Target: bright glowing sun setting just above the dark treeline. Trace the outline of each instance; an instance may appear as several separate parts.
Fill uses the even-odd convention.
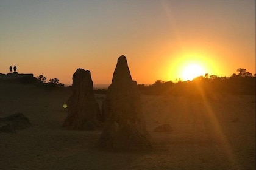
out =
[[[182,72],[182,79],[187,80],[193,80],[194,78],[205,75],[205,70],[202,66],[199,66],[198,64],[188,64]]]

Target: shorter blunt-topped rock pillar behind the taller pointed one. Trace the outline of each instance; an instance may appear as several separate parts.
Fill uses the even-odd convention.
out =
[[[93,130],[99,124],[99,106],[94,98],[90,71],[77,69],[73,75],[73,94],[68,100],[68,115],[63,127],[73,130]]]

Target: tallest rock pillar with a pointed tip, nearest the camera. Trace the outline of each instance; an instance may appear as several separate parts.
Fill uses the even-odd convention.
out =
[[[102,109],[106,126],[99,138],[99,147],[117,150],[152,148],[144,124],[137,83],[132,80],[125,56],[118,58]]]

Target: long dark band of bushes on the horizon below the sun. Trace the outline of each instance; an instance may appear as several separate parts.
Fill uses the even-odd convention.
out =
[[[255,95],[256,77],[246,69],[237,69],[240,72],[231,77],[217,77],[216,75],[205,74],[192,81],[157,80],[154,84],[145,86],[139,84],[140,92],[147,95],[186,95],[190,97],[211,97],[213,94],[243,94]]]

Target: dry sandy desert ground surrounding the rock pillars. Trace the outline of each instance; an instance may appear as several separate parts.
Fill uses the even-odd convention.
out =
[[[0,169],[255,169],[255,96],[141,95],[151,151],[96,147],[101,130],[62,129],[67,88],[0,84],[0,117],[21,112],[29,129],[0,134]],[[96,95],[99,103],[101,98]],[[172,132],[154,132],[169,123]]]

